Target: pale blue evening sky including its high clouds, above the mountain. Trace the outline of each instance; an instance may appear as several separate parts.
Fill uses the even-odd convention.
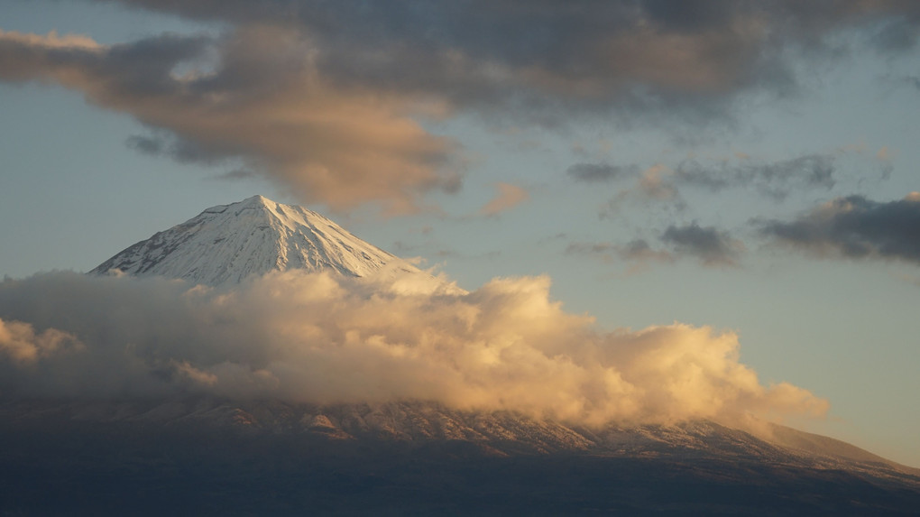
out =
[[[5,350],[91,345],[17,312],[14,294],[96,293],[36,273],[258,193],[483,311],[535,293],[592,335],[579,353],[711,334],[714,385],[764,386],[726,408],[795,392],[808,410],[784,421],[918,466],[918,35],[897,0],[0,0],[0,274],[26,279],[0,330],[34,345]],[[219,378],[194,364],[174,366]],[[636,402],[680,400],[653,395]]]

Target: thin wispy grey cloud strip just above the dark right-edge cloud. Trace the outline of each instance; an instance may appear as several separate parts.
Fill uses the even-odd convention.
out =
[[[834,155],[805,155],[773,163],[742,163],[704,166],[696,160],[681,162],[674,171],[674,181],[681,185],[712,192],[731,188],[749,188],[774,198],[785,199],[801,188],[834,187]]]

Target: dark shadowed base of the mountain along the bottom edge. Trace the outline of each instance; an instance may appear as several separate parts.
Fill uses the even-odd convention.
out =
[[[920,484],[694,453],[496,456],[71,422],[0,430],[0,515],[915,515]]]

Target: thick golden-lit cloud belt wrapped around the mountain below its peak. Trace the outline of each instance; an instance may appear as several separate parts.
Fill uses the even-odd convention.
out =
[[[761,385],[738,361],[730,332],[680,324],[599,332],[591,317],[553,301],[549,284],[546,277],[505,278],[469,293],[422,291],[403,289],[398,279],[288,271],[231,292],[43,273],[0,284],[0,316],[17,322],[13,339],[45,350],[29,364],[0,354],[0,390],[77,398],[423,399],[584,423],[827,408],[801,388]],[[82,347],[48,346],[54,336],[79,339]],[[7,350],[12,341],[5,339]],[[42,339],[45,345],[36,344]]]

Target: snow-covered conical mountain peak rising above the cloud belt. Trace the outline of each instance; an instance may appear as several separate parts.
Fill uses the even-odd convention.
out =
[[[110,270],[211,286],[272,270],[334,271],[352,277],[385,270],[422,273],[318,213],[262,196],[209,208],[128,247],[90,274]]]

